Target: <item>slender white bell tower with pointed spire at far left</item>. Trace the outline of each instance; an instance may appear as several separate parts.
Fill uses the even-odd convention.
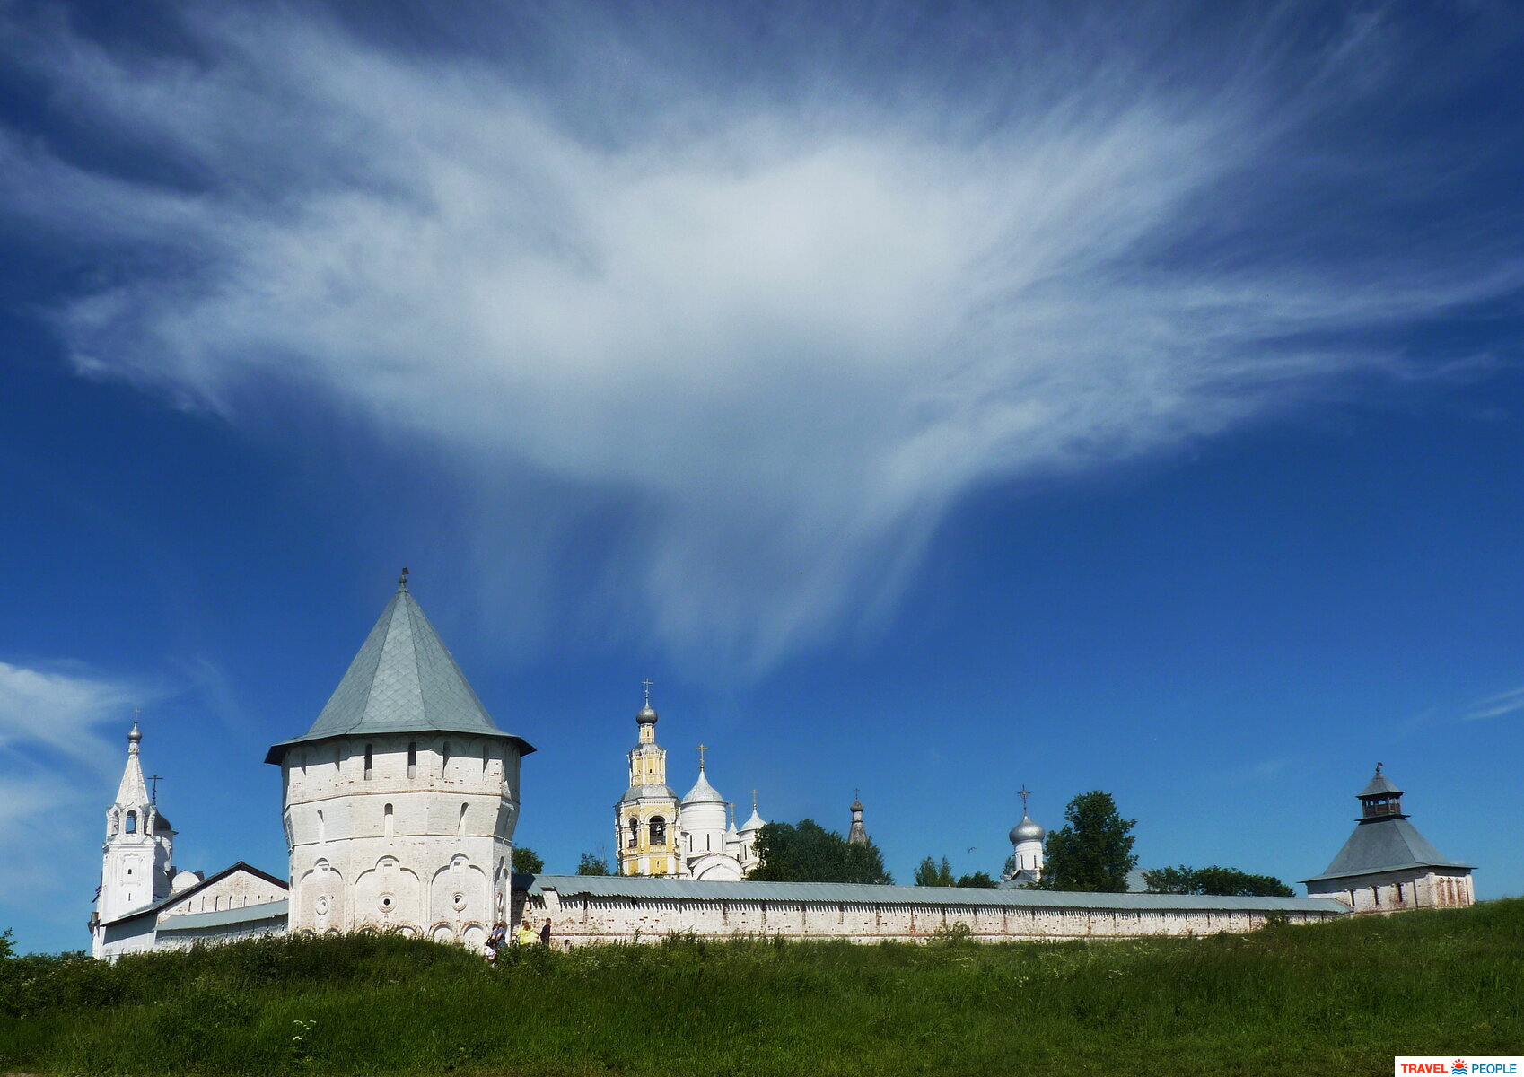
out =
[[[143,765],[139,745],[143,734],[133,719],[126,734],[126,768],[116,801],[105,810],[105,844],[102,845],[101,891],[96,896],[94,916],[90,919],[93,952],[102,957],[104,929],[133,909],[151,905],[169,896],[174,877],[171,867],[174,855],[174,829],[169,820],[158,813],[154,797],[148,795],[143,780]]]

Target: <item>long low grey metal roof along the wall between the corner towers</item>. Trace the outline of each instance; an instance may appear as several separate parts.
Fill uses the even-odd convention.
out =
[[[1071,894],[1049,890],[965,887],[875,887],[852,882],[693,882],[651,876],[535,874],[514,876],[514,890],[556,891],[561,897],[642,897],[747,902],[828,902],[837,905],[957,905],[1017,908],[1088,908],[1221,912],[1349,912],[1330,897],[1202,897],[1198,894]]]

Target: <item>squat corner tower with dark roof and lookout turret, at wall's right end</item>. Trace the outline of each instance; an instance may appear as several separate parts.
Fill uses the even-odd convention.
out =
[[[1381,772],[1356,794],[1355,833],[1323,874],[1303,879],[1308,897],[1337,897],[1355,912],[1472,905],[1469,864],[1445,859],[1402,812],[1402,789]]]

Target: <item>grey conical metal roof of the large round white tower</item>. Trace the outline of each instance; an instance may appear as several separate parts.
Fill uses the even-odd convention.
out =
[[[521,737],[497,728],[404,583],[381,611],[312,728],[274,745],[265,762],[279,763],[287,748],[306,740],[434,731],[500,737],[512,740],[523,754],[533,751]]]

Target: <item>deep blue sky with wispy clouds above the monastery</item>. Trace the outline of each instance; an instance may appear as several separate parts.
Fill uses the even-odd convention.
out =
[[[608,842],[686,789],[1000,868],[1033,789],[1300,879],[1376,760],[1524,891],[1512,5],[0,3],[0,922],[85,944],[398,568]]]

